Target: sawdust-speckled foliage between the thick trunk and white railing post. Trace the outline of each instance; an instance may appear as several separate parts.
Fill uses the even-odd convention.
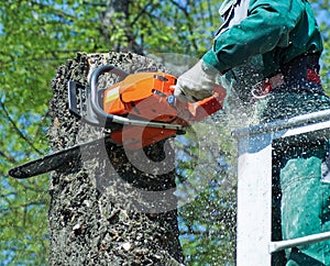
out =
[[[235,143],[230,128],[220,114],[194,125],[184,140],[177,137],[180,241],[187,265],[235,265]]]

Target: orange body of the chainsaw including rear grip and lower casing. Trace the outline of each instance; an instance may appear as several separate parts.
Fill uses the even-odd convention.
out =
[[[136,73],[103,91],[103,111],[109,114],[188,126],[222,109],[226,90],[217,86],[215,95],[195,103],[174,101],[177,78],[166,73]],[[124,124],[112,131],[111,138],[125,148],[141,148],[175,136],[166,125]]]

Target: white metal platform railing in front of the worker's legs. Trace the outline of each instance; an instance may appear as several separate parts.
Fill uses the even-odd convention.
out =
[[[250,126],[233,136],[238,140],[237,265],[271,266],[275,252],[330,240],[330,232],[324,232],[272,241],[273,152],[283,145],[330,138],[330,110]]]

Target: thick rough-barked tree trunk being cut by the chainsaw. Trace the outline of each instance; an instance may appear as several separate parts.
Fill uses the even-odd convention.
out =
[[[78,54],[59,67],[52,82],[53,125],[48,134],[54,151],[102,134],[101,129],[68,112],[67,81],[87,85],[92,69],[105,64],[130,73],[162,68],[145,57],[121,53]],[[99,82],[105,87],[114,78],[103,75]],[[79,162],[52,175],[50,264],[179,265],[183,255],[170,143],[134,152],[105,143],[98,151],[81,149]]]

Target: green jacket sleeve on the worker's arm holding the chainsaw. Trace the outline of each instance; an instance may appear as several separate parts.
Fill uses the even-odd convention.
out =
[[[251,0],[248,16],[219,34],[202,59],[223,73],[250,57],[289,45],[289,33],[304,9],[297,0]]]

